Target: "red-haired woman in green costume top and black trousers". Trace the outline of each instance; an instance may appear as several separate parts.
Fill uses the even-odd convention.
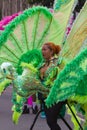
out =
[[[39,79],[43,85],[49,86],[51,88],[54,80],[56,79],[59,71],[58,67],[58,54],[61,50],[59,45],[55,45],[52,42],[47,42],[42,46],[42,55],[44,62],[39,67]],[[58,115],[60,110],[66,103],[66,101],[59,102],[50,108],[45,105],[45,99],[47,95],[41,96],[41,101],[44,104],[44,111],[46,114],[47,124],[50,130],[61,130],[60,126],[57,124]]]

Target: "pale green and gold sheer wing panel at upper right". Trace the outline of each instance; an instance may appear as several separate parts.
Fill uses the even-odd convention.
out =
[[[81,50],[87,45],[87,2],[83,6],[82,10],[78,14],[72,30],[65,41],[65,45],[62,50],[62,57],[71,61]]]

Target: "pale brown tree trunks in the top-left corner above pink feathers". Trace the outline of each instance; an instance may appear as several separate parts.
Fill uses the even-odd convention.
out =
[[[29,4],[27,0],[1,0],[0,1],[0,9],[2,12],[2,17],[23,11],[28,7]]]

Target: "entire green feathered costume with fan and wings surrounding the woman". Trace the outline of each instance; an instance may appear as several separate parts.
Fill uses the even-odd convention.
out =
[[[87,2],[76,18],[69,36],[64,41],[73,3],[74,0],[55,0],[53,14],[45,7],[33,7],[25,10],[0,35],[0,64],[10,62],[16,68],[15,74],[9,70],[10,74],[13,75],[11,81],[13,83],[14,106],[12,109],[15,123],[18,122],[26,98],[35,92],[43,92],[43,90],[47,93],[50,91],[46,99],[48,107],[65,99],[73,100],[81,105],[87,119],[87,102],[83,100],[87,96]],[[42,86],[37,78],[35,82],[32,78],[37,73],[42,57],[38,57],[37,54],[35,57],[31,51],[34,49],[40,51],[41,46],[49,41],[60,44],[62,47],[59,55],[60,62],[58,61],[61,68],[60,73],[52,84],[51,90]],[[62,60],[66,61],[64,68],[62,68]],[[28,64],[23,63],[22,68],[20,66],[22,62],[30,64],[28,66]],[[27,82],[29,79],[31,80]],[[35,84],[39,86],[39,90],[36,89]],[[84,129],[86,129],[86,125]]]

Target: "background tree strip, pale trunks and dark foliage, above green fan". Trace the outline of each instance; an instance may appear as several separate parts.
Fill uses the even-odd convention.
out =
[[[23,11],[33,5],[43,5],[50,8],[53,3],[54,0],[1,0],[0,13],[2,17],[5,17]]]

